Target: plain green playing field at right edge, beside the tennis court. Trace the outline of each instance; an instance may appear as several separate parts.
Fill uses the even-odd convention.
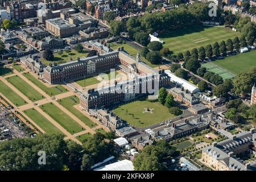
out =
[[[216,60],[213,63],[234,73],[249,72],[251,68],[256,67],[256,50]]]

